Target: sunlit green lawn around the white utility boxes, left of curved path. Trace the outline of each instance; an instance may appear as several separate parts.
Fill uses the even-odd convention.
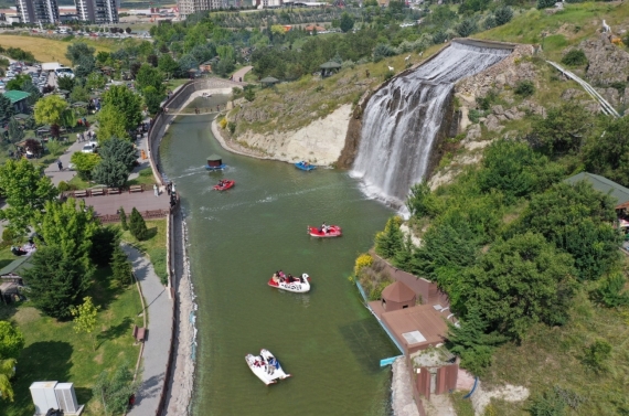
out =
[[[32,416],[29,386],[35,381],[72,382],[84,415],[103,415],[100,403],[93,397],[92,386],[104,370],[114,370],[124,362],[135,369],[139,346],[134,345],[131,329],[141,326],[141,302],[136,286],[119,288],[111,284],[109,268],[99,269],[87,294],[100,306],[96,331],[96,351],[92,339],[75,333],[72,322],[43,317],[30,303],[0,306],[0,319],[14,321],[25,338],[25,348],[18,360],[13,381],[14,403],[0,406],[2,416]]]

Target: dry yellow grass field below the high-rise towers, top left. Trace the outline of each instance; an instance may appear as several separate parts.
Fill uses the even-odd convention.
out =
[[[109,43],[89,40],[85,42],[96,47],[96,51],[109,52],[111,50],[111,44]],[[71,64],[70,60],[65,57],[65,52],[71,43],[72,42],[42,36],[0,34],[0,45],[3,47],[21,47],[24,51],[31,52],[35,56],[35,60],[40,62],[60,62],[64,65]]]

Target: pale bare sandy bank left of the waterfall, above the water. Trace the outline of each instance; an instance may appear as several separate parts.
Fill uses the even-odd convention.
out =
[[[225,139],[216,122],[212,122],[212,132],[223,148],[235,153],[289,163],[308,160],[313,164],[330,166],[345,146],[351,113],[352,106],[347,104],[302,129],[274,135],[246,132],[237,140]]]

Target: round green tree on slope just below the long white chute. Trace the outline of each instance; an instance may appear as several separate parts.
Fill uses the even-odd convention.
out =
[[[593,115],[580,104],[567,102],[551,108],[533,122],[532,136],[550,154],[576,153],[594,127]]]

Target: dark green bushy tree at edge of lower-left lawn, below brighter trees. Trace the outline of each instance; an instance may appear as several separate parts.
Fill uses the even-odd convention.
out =
[[[78,303],[92,280],[78,262],[66,257],[58,246],[43,246],[32,255],[32,267],[23,271],[29,299],[34,307],[57,319],[70,318],[70,307]]]

